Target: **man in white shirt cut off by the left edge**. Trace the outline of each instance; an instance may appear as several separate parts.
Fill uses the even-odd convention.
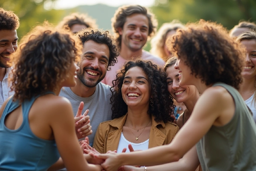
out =
[[[8,74],[11,68],[7,62],[9,55],[18,48],[16,29],[20,26],[19,18],[12,11],[0,8],[0,107],[13,91],[8,86]]]

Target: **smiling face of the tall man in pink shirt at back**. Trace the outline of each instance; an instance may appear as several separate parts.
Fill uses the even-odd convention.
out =
[[[123,28],[119,28],[122,36],[121,48],[128,47],[135,52],[141,50],[148,38],[148,18],[143,14],[132,14],[127,16]]]

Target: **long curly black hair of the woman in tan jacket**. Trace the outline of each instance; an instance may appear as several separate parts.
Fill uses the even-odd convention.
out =
[[[174,118],[174,103],[173,98],[170,96],[167,89],[166,73],[162,68],[157,67],[151,61],[128,61],[121,68],[119,73],[116,74],[116,79],[113,81],[114,85],[111,88],[112,96],[110,97],[110,104],[112,104],[112,119],[124,116],[128,107],[123,101],[122,85],[124,76],[130,68],[140,67],[148,76],[148,81],[151,86],[151,97],[154,102],[153,107],[149,105],[148,114],[155,116],[156,122],[167,121],[173,122]]]

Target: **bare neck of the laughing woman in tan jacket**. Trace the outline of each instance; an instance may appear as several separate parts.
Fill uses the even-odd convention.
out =
[[[134,110],[128,107],[126,123],[134,129],[140,129],[143,126],[146,126],[147,124],[151,125],[152,122],[149,122],[151,120],[151,116],[147,113],[147,111],[148,108],[142,110]]]

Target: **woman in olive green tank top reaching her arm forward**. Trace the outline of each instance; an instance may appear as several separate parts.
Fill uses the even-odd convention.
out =
[[[132,153],[96,155],[102,167],[146,165],[149,170],[253,171],[256,168],[256,125],[236,90],[244,66],[240,43],[226,29],[201,20],[180,29],[168,40],[177,55],[180,86],[194,85],[202,94],[174,140],[164,146]],[[174,163],[169,163],[174,162]],[[152,165],[161,166],[147,167]]]

